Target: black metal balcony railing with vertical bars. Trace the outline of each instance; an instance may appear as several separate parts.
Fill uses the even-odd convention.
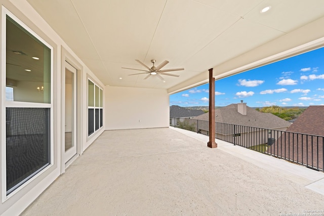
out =
[[[324,171],[322,136],[220,122],[215,124],[216,139]],[[209,121],[205,120],[170,118],[170,126],[209,135]]]

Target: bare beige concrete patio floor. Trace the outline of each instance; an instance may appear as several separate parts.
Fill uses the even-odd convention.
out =
[[[324,215],[323,172],[207,141],[178,128],[105,131],[21,215]]]

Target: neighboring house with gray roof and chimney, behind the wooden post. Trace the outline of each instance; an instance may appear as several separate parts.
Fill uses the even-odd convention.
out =
[[[197,121],[198,132],[208,135],[209,113],[199,115],[193,119]],[[215,109],[216,138],[231,141],[238,145],[255,146],[268,143],[268,138],[275,137],[271,130],[286,131],[291,125],[271,113],[262,113],[248,107],[247,103],[230,104]],[[258,137],[258,139],[251,139]]]

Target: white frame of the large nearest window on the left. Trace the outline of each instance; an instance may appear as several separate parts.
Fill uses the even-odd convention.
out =
[[[2,118],[5,119],[6,116],[6,108],[10,107],[17,107],[17,108],[49,108],[50,111],[50,118],[49,118],[49,164],[47,164],[45,167],[42,167],[41,169],[38,169],[37,171],[33,172],[29,177],[26,178],[26,181],[22,181],[22,184],[17,186],[14,190],[12,190],[8,194],[7,190],[7,158],[6,158],[6,153],[7,153],[7,147],[6,145],[2,145],[1,147],[1,163],[2,163],[2,200],[3,202],[9,199],[10,197],[14,196],[17,194],[22,188],[26,187],[30,182],[34,181],[36,178],[44,174],[48,169],[50,169],[54,165],[54,48],[51,46],[45,39],[43,39],[41,36],[39,36],[36,32],[34,32],[31,28],[29,28],[24,22],[22,22],[19,18],[17,18],[14,14],[12,14],[8,9],[6,9],[4,6],[2,6],[2,53],[6,54],[7,53],[7,46],[6,46],[6,41],[7,41],[7,16],[15,21],[17,24],[19,24],[22,28],[24,28],[29,34],[34,36],[36,39],[41,41],[43,45],[45,45],[47,48],[50,50],[50,101],[49,103],[34,103],[34,102],[20,102],[20,101],[7,101],[5,98],[5,95],[2,94]],[[6,62],[6,55],[2,55],[2,62]],[[2,77],[2,86],[6,86],[6,64],[2,64],[2,72],[1,72],[1,77]],[[2,130],[2,140],[1,142],[6,144],[6,122],[2,122],[2,128],[5,128]]]

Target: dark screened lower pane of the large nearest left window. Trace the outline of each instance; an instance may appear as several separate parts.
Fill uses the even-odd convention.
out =
[[[7,194],[50,164],[50,108],[6,108]]]

